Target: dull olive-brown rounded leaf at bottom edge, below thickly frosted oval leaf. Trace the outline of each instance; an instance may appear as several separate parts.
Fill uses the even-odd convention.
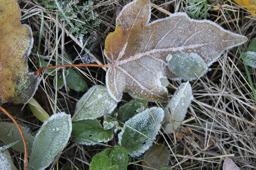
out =
[[[168,164],[170,156],[169,150],[163,144],[153,144],[144,154],[145,161],[142,162],[143,170],[151,170],[151,168],[160,169]],[[147,168],[151,167],[151,168]]]

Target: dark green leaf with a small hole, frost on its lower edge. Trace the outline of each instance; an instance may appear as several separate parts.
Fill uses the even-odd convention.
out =
[[[81,120],[73,122],[72,125],[72,139],[81,144],[94,145],[99,142],[108,142],[113,138],[113,132],[104,130],[97,119]]]

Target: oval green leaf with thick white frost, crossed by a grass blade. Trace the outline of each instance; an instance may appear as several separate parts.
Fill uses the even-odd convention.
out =
[[[140,156],[152,145],[152,140],[155,139],[161,127],[160,122],[163,121],[163,116],[163,109],[157,107],[137,113],[125,122],[122,131],[118,134],[119,145],[125,147],[130,156]]]

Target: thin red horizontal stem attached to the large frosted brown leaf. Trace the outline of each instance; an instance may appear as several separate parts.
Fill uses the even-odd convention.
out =
[[[43,70],[51,69],[51,68],[60,68],[60,67],[112,67],[113,65],[99,65],[99,64],[66,64],[66,65],[54,65],[49,67],[39,68],[34,72],[35,77],[39,77]]]

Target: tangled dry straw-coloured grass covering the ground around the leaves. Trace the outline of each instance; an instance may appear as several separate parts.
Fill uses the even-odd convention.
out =
[[[82,0],[81,0],[82,1]],[[105,63],[103,55],[104,41],[108,32],[115,29],[115,18],[122,6],[131,0],[94,0],[93,8],[99,16],[101,24],[93,28],[96,34],[88,34],[82,43],[66,28],[67,20],[61,19],[58,10],[50,10],[42,5],[40,0],[19,0],[24,23],[32,27],[34,34],[34,52],[29,56],[29,68],[38,68],[38,55],[49,57],[56,65],[67,63],[82,63],[82,56],[89,50],[97,63]],[[174,12],[186,12],[187,0],[151,0],[152,18],[163,18]],[[237,6],[231,0],[215,0],[207,2],[210,6],[207,18],[235,33],[245,35],[249,40],[256,37],[256,19],[250,12]],[[82,4],[82,3],[79,3]],[[78,5],[79,5],[78,4]],[[77,20],[79,22],[79,20]],[[41,28],[41,23],[44,24]],[[83,23],[86,24],[86,23]],[[42,41],[38,48],[38,37]],[[89,42],[88,44],[86,43]],[[246,51],[247,44],[240,46]],[[37,50],[39,49],[39,50]],[[67,57],[73,56],[73,57]],[[76,58],[76,60],[74,60]],[[204,77],[191,81],[194,99],[187,113],[183,126],[193,130],[195,140],[190,137],[175,143],[172,134],[157,137],[157,142],[169,147],[170,162],[168,167],[175,170],[221,170],[223,159],[229,157],[241,170],[256,168],[256,101],[253,98],[244,64],[238,48],[226,51],[218,62],[212,66],[212,71]],[[76,68],[87,81],[88,86],[105,83],[105,70],[102,68]],[[249,68],[252,81],[256,82],[255,68]],[[61,74],[56,71],[56,74]],[[70,91],[69,88],[56,90],[52,85],[52,77],[44,74],[35,99],[50,114],[64,111],[73,114],[76,102],[83,93]],[[170,81],[169,95],[172,96],[180,81]],[[124,99],[131,99],[125,94]],[[125,102],[125,101],[122,101]],[[163,103],[149,103],[149,107]],[[41,122],[35,119],[25,106],[22,113],[18,105],[6,105],[15,118],[23,125],[36,132]],[[17,112],[18,111],[18,112]],[[194,119],[190,119],[191,116]],[[6,121],[3,114],[2,121]],[[190,121],[186,121],[190,119]],[[116,140],[114,138],[113,140]],[[115,142],[113,142],[115,143]],[[112,145],[109,142],[108,144]],[[50,169],[89,169],[92,157],[104,150],[104,145],[83,146],[70,142],[64,151],[58,155]],[[22,154],[15,151],[12,157],[17,165],[22,167]],[[141,169],[143,157],[130,159],[128,168]]]

